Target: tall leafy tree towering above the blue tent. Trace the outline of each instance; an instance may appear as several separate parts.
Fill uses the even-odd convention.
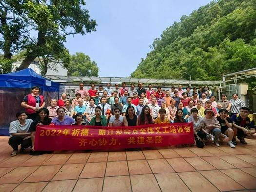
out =
[[[96,21],[90,19],[88,10],[83,6],[84,0],[1,0],[0,9],[4,11],[0,12],[0,17],[8,21],[2,24],[8,33],[0,31],[3,35],[0,49],[6,52],[5,55],[12,49],[16,52],[26,50],[18,70],[27,68],[37,57],[59,58],[65,52],[66,36],[84,35],[96,30]],[[9,15],[13,18],[9,19]],[[19,18],[17,23],[25,24],[15,27],[16,33],[13,33],[18,34],[18,40],[9,43],[14,18]],[[31,31],[37,32],[36,38],[31,37]]]

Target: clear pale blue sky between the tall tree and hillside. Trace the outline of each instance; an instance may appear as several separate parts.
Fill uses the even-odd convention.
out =
[[[189,15],[212,0],[86,0],[96,20],[96,32],[69,36],[70,54],[89,55],[99,77],[129,77],[151,51],[155,38],[182,15]]]

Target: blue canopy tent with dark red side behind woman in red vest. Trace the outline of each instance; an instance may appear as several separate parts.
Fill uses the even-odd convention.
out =
[[[40,87],[46,104],[58,98],[59,83],[47,80],[30,68],[0,75],[0,135],[9,135],[10,122],[16,120],[18,111],[24,110],[21,102],[33,86]]]

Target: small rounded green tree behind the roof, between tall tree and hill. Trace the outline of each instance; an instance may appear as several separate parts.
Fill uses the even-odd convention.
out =
[[[64,64],[68,70],[68,75],[72,76],[98,76],[99,68],[95,61],[91,61],[88,55],[76,53],[70,56],[69,64]]]

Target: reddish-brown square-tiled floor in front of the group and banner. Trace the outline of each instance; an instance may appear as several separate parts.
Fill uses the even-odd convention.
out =
[[[142,151],[12,152],[0,137],[0,192],[255,191],[256,140]]]

